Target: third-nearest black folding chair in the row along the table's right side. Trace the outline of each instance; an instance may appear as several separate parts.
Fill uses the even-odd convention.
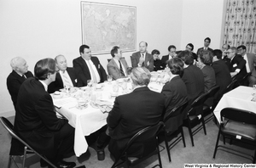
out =
[[[203,127],[205,135],[207,135],[207,129],[205,126],[205,120],[203,117],[203,104],[207,100],[209,95],[209,92],[201,94],[198,98],[195,98],[193,103],[190,105],[189,112],[187,119],[185,120],[188,123],[188,128],[189,128],[189,136],[191,139],[192,146],[194,146],[194,138],[193,136],[201,130]],[[201,115],[201,118],[200,116]],[[201,122],[201,126],[197,127],[193,132],[192,132],[192,124],[197,123],[198,121]]]

